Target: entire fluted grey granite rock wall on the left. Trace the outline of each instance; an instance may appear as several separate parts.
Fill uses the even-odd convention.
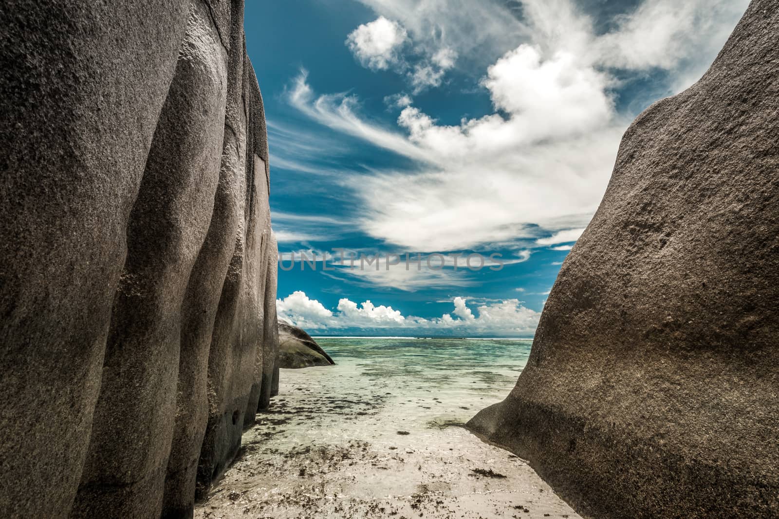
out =
[[[243,2],[12,0],[0,23],[3,512],[186,517],[275,363]]]

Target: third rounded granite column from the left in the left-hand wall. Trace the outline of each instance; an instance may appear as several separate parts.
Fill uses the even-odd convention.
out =
[[[245,133],[243,113],[243,9],[241,2],[209,5],[227,49],[227,93],[219,160],[219,184],[213,216],[196,267],[189,279],[183,308],[182,349],[179,358],[174,440],[167,462],[163,517],[186,517],[195,499],[197,468],[206,431],[209,398],[207,370],[220,293],[235,247],[245,225],[245,166],[236,162],[236,132]],[[234,21],[231,23],[231,18]],[[237,129],[236,129],[237,128]],[[269,223],[270,224],[270,223]],[[226,374],[225,376],[228,376]]]

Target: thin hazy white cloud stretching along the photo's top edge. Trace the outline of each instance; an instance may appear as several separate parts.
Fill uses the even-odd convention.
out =
[[[700,76],[749,5],[749,0],[643,0],[611,20],[612,30],[597,35],[595,13],[574,0],[360,1],[379,16],[397,19],[431,54],[449,48],[474,65],[534,42],[545,52],[573,51],[603,66],[659,67],[683,76]]]

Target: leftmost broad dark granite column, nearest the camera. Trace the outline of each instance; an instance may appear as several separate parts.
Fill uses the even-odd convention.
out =
[[[0,5],[0,503],[67,517],[189,2]]]

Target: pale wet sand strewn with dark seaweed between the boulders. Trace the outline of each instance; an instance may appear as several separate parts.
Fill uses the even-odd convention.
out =
[[[436,391],[378,367],[282,370],[271,411],[195,517],[579,517],[525,461],[459,425],[508,380]]]

